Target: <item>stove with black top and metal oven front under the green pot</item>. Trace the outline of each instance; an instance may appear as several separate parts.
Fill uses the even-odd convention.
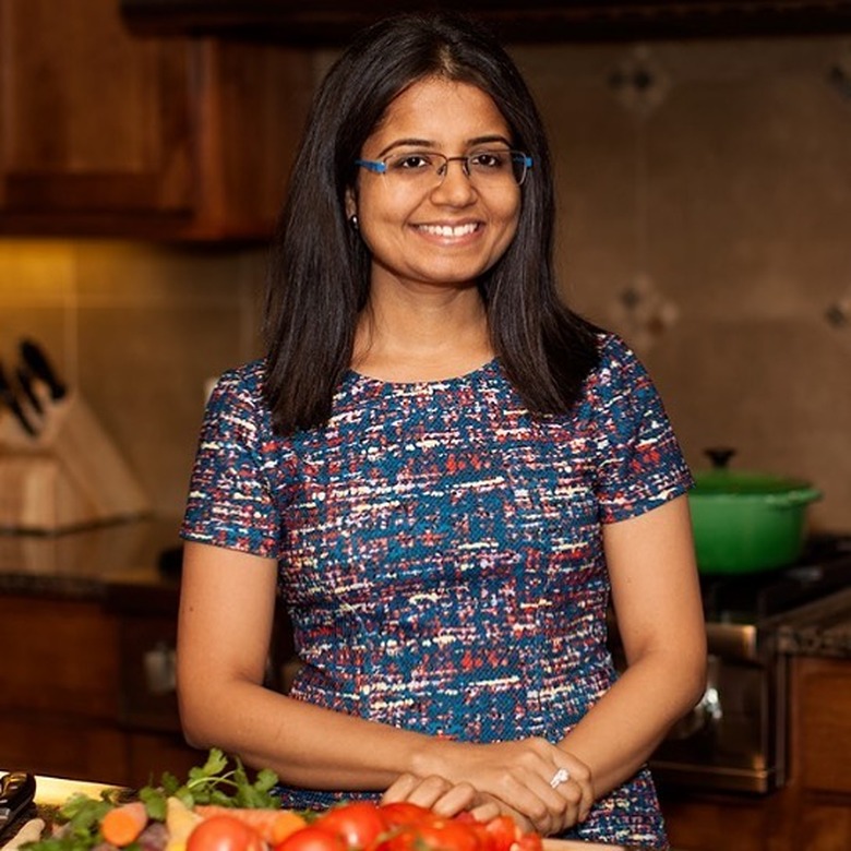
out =
[[[703,576],[707,688],[650,760],[660,786],[766,794],[786,783],[786,619],[851,587],[851,535],[814,536],[789,567]]]

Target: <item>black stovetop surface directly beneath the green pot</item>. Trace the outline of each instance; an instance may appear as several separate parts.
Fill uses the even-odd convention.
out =
[[[851,585],[851,535],[818,535],[795,564],[748,575],[703,576],[707,622],[759,623]]]

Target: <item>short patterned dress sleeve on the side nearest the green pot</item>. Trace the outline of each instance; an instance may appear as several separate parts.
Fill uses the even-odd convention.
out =
[[[616,337],[602,347],[591,406],[600,516],[613,523],[685,493],[692,475],[649,374]]]

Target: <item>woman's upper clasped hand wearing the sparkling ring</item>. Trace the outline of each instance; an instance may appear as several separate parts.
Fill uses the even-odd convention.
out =
[[[436,740],[427,759],[438,776],[498,799],[543,836],[583,820],[594,803],[588,766],[544,739],[490,744]],[[560,768],[567,770],[568,779],[553,787]]]

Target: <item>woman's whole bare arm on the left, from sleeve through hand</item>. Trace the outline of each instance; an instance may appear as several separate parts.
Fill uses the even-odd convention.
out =
[[[406,774],[439,775],[511,801],[542,831],[561,826],[565,802],[549,779],[570,757],[543,740],[442,741],[264,687],[276,570],[273,560],[185,544],[178,694],[188,741],[310,789],[384,790]]]

